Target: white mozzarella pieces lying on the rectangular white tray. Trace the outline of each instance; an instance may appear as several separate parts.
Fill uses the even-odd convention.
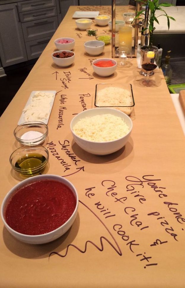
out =
[[[47,119],[52,99],[53,93],[37,91],[31,97],[31,102],[23,109],[24,121],[43,121]]]

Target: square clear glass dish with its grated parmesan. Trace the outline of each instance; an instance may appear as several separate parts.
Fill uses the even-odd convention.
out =
[[[134,105],[131,84],[96,84],[95,107],[114,108],[130,115]]]

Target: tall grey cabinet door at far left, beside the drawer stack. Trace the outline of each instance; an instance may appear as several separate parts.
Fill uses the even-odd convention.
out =
[[[0,5],[0,57],[2,66],[27,61],[23,32],[15,3]]]

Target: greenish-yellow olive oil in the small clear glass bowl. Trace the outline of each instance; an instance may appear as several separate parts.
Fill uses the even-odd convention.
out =
[[[21,156],[15,163],[15,167],[21,169],[22,174],[30,176],[40,172],[39,166],[42,165],[45,160],[46,158],[42,154],[30,153]]]

